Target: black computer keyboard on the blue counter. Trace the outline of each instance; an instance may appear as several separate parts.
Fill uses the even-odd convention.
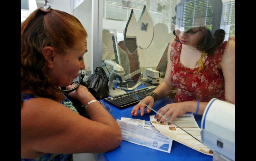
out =
[[[146,94],[153,91],[154,89],[156,89],[156,86],[149,86],[131,92],[127,92],[122,95],[107,97],[104,100],[106,102],[109,102],[110,104],[113,104],[119,109],[124,109],[134,104],[137,104],[139,102],[137,99],[143,99],[146,96]]]

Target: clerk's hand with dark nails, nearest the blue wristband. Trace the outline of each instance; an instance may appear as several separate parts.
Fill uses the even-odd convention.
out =
[[[160,113],[165,118],[168,118],[171,116],[170,121],[173,121],[177,116],[183,115],[187,112],[187,106],[185,102],[179,102],[179,103],[171,103],[167,104],[161,109],[158,110],[157,113]],[[160,121],[162,118],[160,115],[156,114],[155,118],[157,118],[157,121]],[[164,118],[162,118],[160,123],[163,123],[165,121]]]

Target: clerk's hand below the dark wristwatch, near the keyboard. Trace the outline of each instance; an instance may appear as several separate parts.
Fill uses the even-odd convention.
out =
[[[154,98],[152,96],[147,96],[144,99],[141,100],[141,102],[143,102],[144,104],[148,105],[149,107],[153,107],[154,106]],[[131,111],[131,115],[132,116],[137,116],[138,115],[138,111],[140,110],[140,115],[143,116],[144,115],[144,109],[145,109],[145,105],[143,103],[139,102],[137,105],[135,105]],[[150,113],[151,109],[147,109],[146,112]]]

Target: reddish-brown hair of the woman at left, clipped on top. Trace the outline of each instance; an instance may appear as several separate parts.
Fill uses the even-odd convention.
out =
[[[43,48],[51,46],[58,54],[66,54],[85,37],[80,21],[66,12],[37,9],[31,13],[21,24],[21,91],[30,90],[40,97],[61,101],[63,93],[53,86],[48,75]]]

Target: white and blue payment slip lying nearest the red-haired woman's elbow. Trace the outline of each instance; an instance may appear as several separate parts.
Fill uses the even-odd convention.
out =
[[[131,123],[132,120],[135,120],[136,123]],[[121,120],[117,119],[116,122],[121,128],[123,140],[137,145],[146,146],[151,149],[156,149],[167,153],[171,152],[173,140],[162,135],[154,127],[150,127],[152,126],[151,123],[151,125],[145,124],[145,120],[131,118],[123,118]],[[150,121],[147,123],[149,122]]]

